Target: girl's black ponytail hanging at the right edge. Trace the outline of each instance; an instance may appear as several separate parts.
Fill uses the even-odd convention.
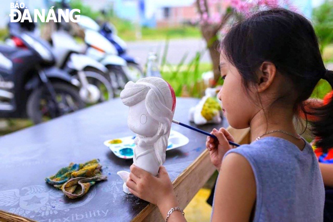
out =
[[[326,70],[323,78],[333,88],[333,71]],[[315,120],[312,122],[312,132],[316,137],[315,146],[321,147],[325,153],[333,148],[333,99],[332,92],[323,106],[314,108]]]

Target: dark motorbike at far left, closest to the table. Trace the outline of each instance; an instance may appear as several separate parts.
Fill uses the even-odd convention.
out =
[[[0,45],[0,118],[29,117],[37,124],[83,108],[79,82],[53,66],[48,44],[13,34],[21,47]]]

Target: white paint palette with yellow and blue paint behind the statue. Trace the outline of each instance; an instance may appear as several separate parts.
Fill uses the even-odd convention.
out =
[[[127,136],[118,139],[106,140],[104,145],[107,146],[116,156],[123,159],[132,159],[133,158],[133,149],[135,147],[134,143],[135,136]],[[189,138],[183,134],[171,130],[168,140],[168,150],[172,150],[181,146],[184,146],[189,143]]]

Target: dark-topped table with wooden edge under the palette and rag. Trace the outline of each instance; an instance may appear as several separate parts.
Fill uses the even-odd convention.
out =
[[[186,124],[188,110],[198,99],[177,98],[176,120]],[[44,124],[0,138],[0,221],[158,221],[158,209],[133,195],[126,195],[117,175],[129,171],[132,160],[120,159],[103,141],[133,135],[127,127],[128,107],[120,99],[98,104]],[[220,125],[200,127],[229,127]],[[179,125],[190,142],[167,152],[164,166],[173,180],[180,206],[185,208],[214,172],[205,149],[206,136]],[[247,142],[248,130],[231,129],[236,142]],[[70,162],[99,158],[105,182],[98,182],[80,199],[68,199],[45,183]]]

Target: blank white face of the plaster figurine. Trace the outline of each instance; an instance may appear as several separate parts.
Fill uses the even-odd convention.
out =
[[[127,125],[136,134],[154,136],[157,133],[159,123],[148,114],[145,100],[142,100],[129,107]]]

